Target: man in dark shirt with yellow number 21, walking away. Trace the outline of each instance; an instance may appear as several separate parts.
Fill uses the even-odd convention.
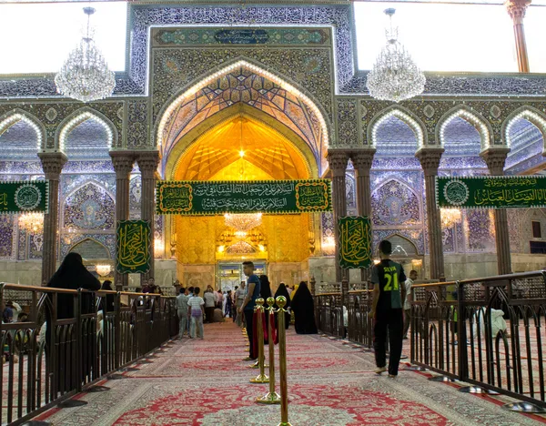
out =
[[[389,378],[398,376],[402,354],[402,330],[404,327],[403,303],[406,291],[406,275],[399,263],[389,259],[392,245],[383,240],[379,243],[381,261],[371,269],[373,301],[369,315],[375,320],[373,349],[375,350],[377,374],[387,370],[385,342],[389,330]]]

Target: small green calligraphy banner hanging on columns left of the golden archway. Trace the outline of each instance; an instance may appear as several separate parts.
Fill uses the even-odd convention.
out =
[[[147,220],[119,220],[116,229],[116,270],[145,274],[152,261],[152,230]]]

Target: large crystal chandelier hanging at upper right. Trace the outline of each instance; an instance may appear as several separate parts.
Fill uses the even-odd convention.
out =
[[[418,96],[425,89],[425,76],[398,40],[398,28],[392,26],[395,9],[386,9],[390,28],[386,30],[387,46],[379,53],[368,74],[369,95],[376,99],[399,102]]]

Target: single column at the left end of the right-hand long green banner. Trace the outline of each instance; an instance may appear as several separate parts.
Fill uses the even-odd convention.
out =
[[[441,239],[440,208],[436,206],[436,177],[443,148],[421,148],[415,157],[425,174],[427,225],[429,227],[430,279],[445,279]]]

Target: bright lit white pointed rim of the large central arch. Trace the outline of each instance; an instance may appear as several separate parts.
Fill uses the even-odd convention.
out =
[[[320,106],[314,97],[305,89],[298,87],[296,83],[291,82],[287,77],[273,74],[266,70],[264,66],[258,65],[248,58],[239,58],[227,66],[224,64],[222,66],[217,66],[207,73],[207,75],[198,78],[197,82],[194,80],[192,84],[185,86],[184,89],[171,96],[158,115],[159,118],[156,121],[154,133],[152,135],[153,144],[159,147],[160,150],[161,147],[165,145],[165,130],[167,123],[177,113],[177,107],[181,106],[188,97],[196,95],[199,90],[207,87],[219,78],[227,76],[238,68],[244,68],[256,76],[264,77],[268,82],[278,85],[292,96],[297,97],[307,109],[305,114],[312,113],[319,121],[319,127],[321,129],[319,147],[321,147],[324,154],[326,153],[329,146],[329,138],[332,136],[333,132],[331,130],[331,123],[327,121],[328,114],[326,114],[322,106]]]

